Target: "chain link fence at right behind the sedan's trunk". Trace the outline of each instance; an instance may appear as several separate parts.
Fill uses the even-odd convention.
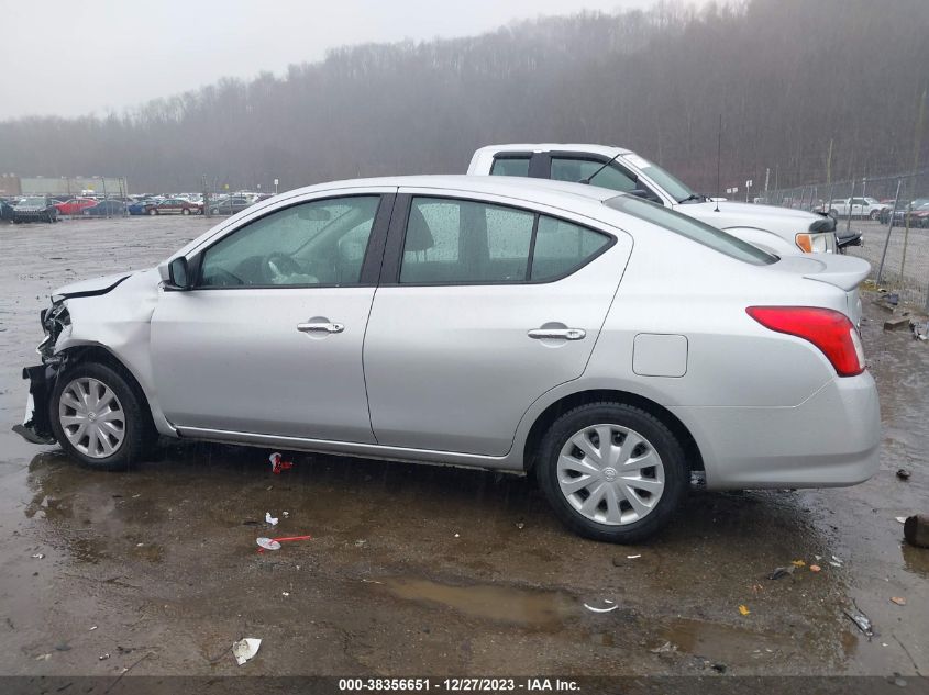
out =
[[[773,205],[826,212],[839,233],[861,231],[848,253],[871,262],[871,279],[929,312],[929,169],[771,191]]]

